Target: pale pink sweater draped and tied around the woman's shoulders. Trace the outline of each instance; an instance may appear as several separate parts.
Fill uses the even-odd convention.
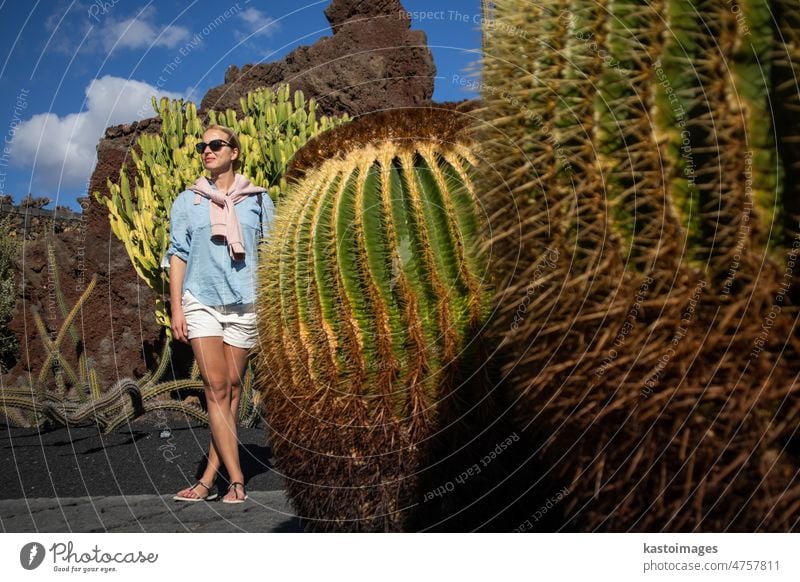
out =
[[[258,194],[267,190],[260,186],[253,186],[250,180],[241,174],[236,174],[233,179],[233,186],[227,192],[214,188],[206,177],[198,178],[189,187],[189,190],[196,194],[194,197],[195,204],[200,204],[201,196],[211,201],[211,204],[208,205],[211,216],[211,236],[224,236],[228,243],[228,252],[231,258],[244,259],[242,226],[239,224],[239,217],[236,216],[236,210],[233,206],[251,194]]]

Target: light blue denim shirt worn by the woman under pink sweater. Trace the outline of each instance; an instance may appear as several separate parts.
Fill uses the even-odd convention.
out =
[[[200,204],[195,204],[195,196],[191,190],[181,192],[170,212],[169,248],[164,262],[168,266],[172,255],[186,262],[181,295],[189,291],[208,306],[253,303],[258,240],[262,230],[265,237],[269,234],[275,216],[272,199],[267,192],[261,195],[261,212],[257,194],[234,205],[245,248],[244,259],[234,260],[228,252],[227,241],[211,240],[211,201],[203,196]]]

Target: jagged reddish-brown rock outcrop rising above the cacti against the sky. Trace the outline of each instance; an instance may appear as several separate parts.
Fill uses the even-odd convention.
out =
[[[314,97],[327,115],[352,116],[425,104],[436,67],[422,31],[399,0],[333,0],[325,10],[334,35],[300,47],[283,60],[232,66],[201,109],[240,110],[239,99],[259,87],[288,82]]]

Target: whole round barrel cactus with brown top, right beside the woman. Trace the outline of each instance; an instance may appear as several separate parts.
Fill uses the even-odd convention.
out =
[[[409,527],[433,443],[470,400],[488,295],[464,119],[373,114],[312,140],[263,249],[270,444],[317,529]]]

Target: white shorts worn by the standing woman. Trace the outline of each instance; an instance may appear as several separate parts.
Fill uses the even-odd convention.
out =
[[[200,303],[189,291],[183,293],[181,305],[190,340],[222,337],[223,342],[236,348],[250,349],[256,345],[258,330],[252,305],[215,309]]]

